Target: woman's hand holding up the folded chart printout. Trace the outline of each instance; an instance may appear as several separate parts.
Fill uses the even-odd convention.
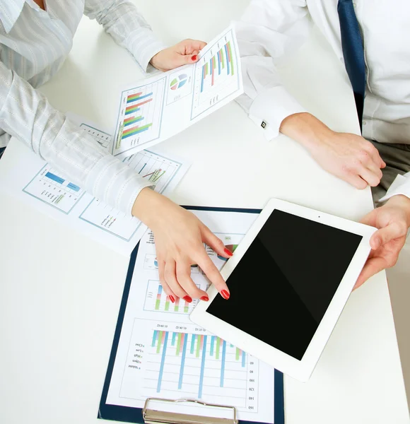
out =
[[[152,59],[151,64],[160,71],[169,71],[186,64],[198,61],[198,53],[206,46],[206,42],[183,40],[177,45],[163,49]]]

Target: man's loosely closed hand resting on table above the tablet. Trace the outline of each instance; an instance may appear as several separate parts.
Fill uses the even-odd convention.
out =
[[[332,131],[308,113],[293,114],[281,124],[281,133],[303,144],[327,172],[356,187],[376,187],[386,164],[377,148],[361,136]]]

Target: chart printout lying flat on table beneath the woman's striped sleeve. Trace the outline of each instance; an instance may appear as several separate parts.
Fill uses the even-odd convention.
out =
[[[109,131],[74,114],[69,114],[69,118],[102,147],[110,148],[112,135]],[[1,189],[88,237],[122,254],[131,254],[146,232],[146,225],[140,220],[86,193],[16,139],[11,139],[1,165],[6,165],[4,162],[8,160],[13,161],[13,166],[7,167],[6,175],[2,174]],[[156,192],[165,195],[175,189],[189,168],[181,160],[151,150],[130,155],[123,162],[141,177],[149,179]]]

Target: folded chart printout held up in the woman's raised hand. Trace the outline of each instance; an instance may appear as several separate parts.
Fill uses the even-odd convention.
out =
[[[242,94],[233,27],[209,42],[199,61],[122,90],[112,154],[124,158],[174,136]]]

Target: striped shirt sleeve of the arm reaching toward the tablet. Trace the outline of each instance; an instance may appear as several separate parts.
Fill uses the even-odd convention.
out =
[[[87,192],[131,214],[151,182],[110,155],[0,61],[0,127]]]

